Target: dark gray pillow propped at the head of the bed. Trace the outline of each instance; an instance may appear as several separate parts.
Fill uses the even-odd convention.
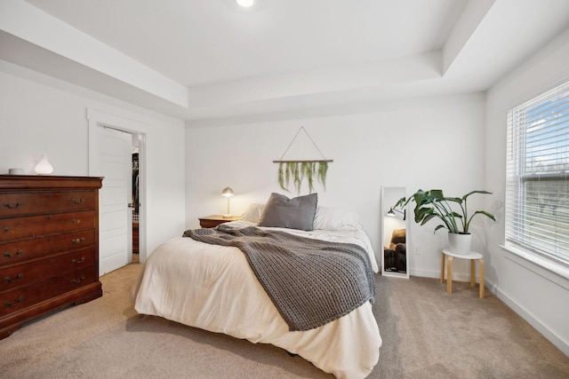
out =
[[[260,216],[259,226],[284,227],[311,231],[317,213],[318,194],[289,199],[280,193],[271,193]]]

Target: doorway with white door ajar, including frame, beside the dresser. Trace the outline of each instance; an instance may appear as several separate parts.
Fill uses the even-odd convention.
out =
[[[144,125],[112,114],[88,109],[87,119],[89,175],[104,177],[99,218],[99,267],[103,275],[146,260],[146,136],[140,131]],[[133,254],[133,249],[138,254]]]

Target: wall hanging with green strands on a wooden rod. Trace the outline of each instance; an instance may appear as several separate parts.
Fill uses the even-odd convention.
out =
[[[287,158],[285,158],[285,155],[287,153],[289,153],[289,150],[291,149],[291,147],[293,146],[293,144],[295,142],[297,142],[298,145],[301,145],[301,139],[297,140],[297,138],[301,134],[301,131],[304,131],[304,134],[302,135],[305,138],[305,146],[304,147],[305,148],[310,147],[309,144],[307,146],[306,141],[311,142],[312,146],[314,148],[316,148],[316,152],[317,152],[318,156],[314,159],[287,159]],[[308,140],[306,140],[306,138],[308,138]],[[297,150],[298,150],[298,148],[297,148]],[[299,153],[297,153],[297,154],[299,154]],[[307,154],[308,155],[308,153],[306,151],[302,152],[301,154]],[[302,126],[301,129],[299,129],[299,131],[296,132],[296,135],[294,136],[294,138],[291,141],[291,143],[289,144],[289,146],[286,147],[286,150],[284,150],[284,154],[281,156],[281,158],[279,160],[273,161],[273,162],[278,163],[278,184],[279,184],[279,186],[281,186],[281,188],[283,188],[284,191],[290,192],[288,187],[289,187],[290,183],[293,182],[294,188],[296,189],[297,193],[301,194],[302,181],[305,178],[309,182],[309,193],[312,193],[314,191],[315,179],[317,179],[317,181],[320,182],[322,184],[322,186],[324,187],[324,190],[326,190],[326,175],[328,173],[328,163],[333,162],[333,160],[325,158],[324,154],[322,154],[322,152],[318,148],[317,144],[309,136],[309,132],[306,131],[306,129],[304,129],[304,127]]]

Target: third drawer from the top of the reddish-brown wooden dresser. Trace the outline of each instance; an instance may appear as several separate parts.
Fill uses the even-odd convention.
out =
[[[29,259],[95,246],[95,229],[52,234],[28,240],[0,243],[0,267],[19,264]]]

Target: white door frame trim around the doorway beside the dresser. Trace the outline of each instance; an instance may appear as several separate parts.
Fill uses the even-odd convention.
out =
[[[101,156],[99,146],[100,133],[98,127],[104,126],[130,134],[139,135],[139,259],[140,263],[146,262],[146,193],[147,193],[147,164],[146,164],[146,133],[143,130],[148,129],[148,125],[143,122],[134,121],[128,118],[108,114],[98,110],[87,108],[88,122],[88,161],[89,176],[100,177],[102,169],[100,167]],[[104,180],[103,180],[104,183]],[[132,262],[132,257],[131,257]],[[131,263],[129,262],[129,263]]]

